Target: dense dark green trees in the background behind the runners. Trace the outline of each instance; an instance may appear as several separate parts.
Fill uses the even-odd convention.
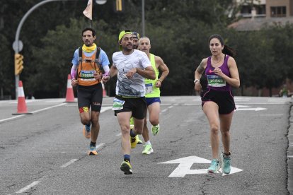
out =
[[[11,45],[17,25],[38,2],[4,0],[1,3],[0,52],[4,56],[0,59],[0,76],[4,82],[0,86],[4,94],[15,93]],[[245,95],[246,87],[274,88],[285,78],[292,78],[292,54],[289,52],[293,49],[290,44],[292,25],[236,32],[226,28],[235,19],[233,14],[228,17],[228,13],[235,13],[232,0],[145,2],[146,36],[151,39],[151,52],[162,57],[170,69],[161,88],[163,95],[195,93],[194,71],[203,58],[211,55],[207,41],[216,33],[238,53],[235,59],[241,78],[241,95]],[[114,12],[112,3],[93,6],[96,43],[108,54],[110,62],[113,52],[118,50],[120,30],[140,32],[142,23],[141,1],[125,0],[125,12],[119,14]],[[36,98],[64,97],[71,57],[74,49],[82,45],[81,30],[91,25],[82,14],[85,7],[84,1],[54,1],[36,9],[25,20],[20,36],[24,45],[21,54],[25,57],[25,69],[21,80],[25,93],[34,94]],[[114,95],[115,79],[107,83],[106,88]]]

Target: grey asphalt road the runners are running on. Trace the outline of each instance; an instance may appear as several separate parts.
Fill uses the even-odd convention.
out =
[[[0,101],[0,194],[289,194],[292,99],[235,100],[230,175],[206,172],[212,154],[198,96],[161,98],[154,153],[132,150],[133,175],[120,171],[113,98],[103,100],[97,156],[86,155],[76,103],[26,100],[33,114],[13,115],[17,101]]]

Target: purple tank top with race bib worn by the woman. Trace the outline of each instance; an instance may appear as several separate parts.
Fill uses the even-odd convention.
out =
[[[222,77],[217,76],[213,72],[214,67],[212,66],[211,59],[212,57],[209,57],[207,59],[207,67],[205,68],[205,76],[207,76],[207,88],[212,90],[230,91],[231,85],[226,83],[226,81]],[[225,55],[224,63],[221,66],[219,66],[219,69],[221,69],[222,72],[226,76],[231,77],[231,74],[228,68],[228,59],[229,59],[229,56]]]

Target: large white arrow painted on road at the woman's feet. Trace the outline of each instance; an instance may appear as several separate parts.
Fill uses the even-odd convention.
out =
[[[199,170],[190,170],[190,167],[193,166],[193,163],[197,164],[209,164],[211,163],[211,160],[207,160],[205,158],[200,158],[198,156],[192,155],[185,158],[178,158],[176,160],[170,160],[166,162],[159,162],[160,164],[179,164],[178,167],[176,167],[175,170],[169,175],[168,177],[185,177],[185,175],[188,174],[208,174],[207,169],[199,169]],[[236,172],[241,172],[243,170],[231,167],[231,174],[234,174]],[[222,172],[220,169],[219,172]],[[225,176],[226,174],[223,174]]]

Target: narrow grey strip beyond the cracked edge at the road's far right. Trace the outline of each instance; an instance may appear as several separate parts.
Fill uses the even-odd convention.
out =
[[[287,148],[287,189],[289,194],[293,194],[293,97],[291,98],[291,107],[289,115],[289,129],[288,129],[288,141],[289,146]]]

